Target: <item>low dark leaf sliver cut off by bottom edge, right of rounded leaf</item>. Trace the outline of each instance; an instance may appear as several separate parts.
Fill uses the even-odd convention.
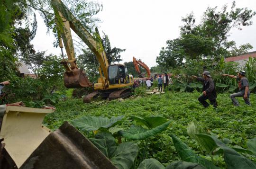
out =
[[[174,161],[169,164],[165,169],[206,169],[200,164],[186,161]]]

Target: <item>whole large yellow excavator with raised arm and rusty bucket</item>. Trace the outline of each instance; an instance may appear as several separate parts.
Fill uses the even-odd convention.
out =
[[[59,46],[62,49],[63,55],[64,43],[68,56],[68,61],[66,61],[63,55],[62,61],[66,70],[64,73],[64,85],[67,88],[93,88],[95,91],[83,98],[83,102],[87,103],[99,96],[111,100],[126,98],[131,95],[130,88],[128,87],[133,85],[133,76],[128,74],[128,69],[124,64],[109,64],[98,29],[96,28],[96,37],[92,36],[82,26],[82,23],[65,7],[61,0],[53,0],[52,3],[59,34]],[[92,84],[85,73],[77,67],[71,29],[91,49],[100,63],[100,78],[97,83]]]

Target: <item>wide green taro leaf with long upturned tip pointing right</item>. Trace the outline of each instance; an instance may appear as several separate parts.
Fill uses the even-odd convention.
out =
[[[145,140],[148,137],[155,136],[155,134],[163,132],[170,123],[171,121],[168,121],[163,125],[159,125],[149,130],[141,126],[132,125],[127,131],[119,131],[118,133],[128,140]]]

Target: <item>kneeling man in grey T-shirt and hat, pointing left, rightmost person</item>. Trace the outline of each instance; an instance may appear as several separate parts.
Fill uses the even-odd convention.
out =
[[[230,78],[236,78],[239,84],[239,92],[233,93],[230,95],[230,98],[233,102],[234,106],[239,106],[239,102],[236,99],[236,97],[243,97],[245,100],[245,103],[249,106],[251,106],[250,103],[250,91],[249,91],[249,82],[247,78],[245,77],[246,72],[245,71],[239,71],[238,76],[229,75],[229,74],[222,74],[221,76],[229,76]]]

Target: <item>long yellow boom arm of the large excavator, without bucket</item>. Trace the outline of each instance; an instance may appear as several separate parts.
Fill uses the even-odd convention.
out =
[[[63,39],[66,53],[68,55],[68,62],[70,62],[71,69],[74,69],[76,67],[76,64],[70,28],[95,54],[107,81],[109,62],[103,49],[101,39],[99,38],[99,40],[96,40],[96,38],[93,37],[83,27],[82,23],[73,16],[69,9],[65,7],[61,0],[52,0],[52,4],[54,7],[55,15],[57,16],[55,20],[56,24],[58,25],[58,31],[60,31],[61,37]]]

